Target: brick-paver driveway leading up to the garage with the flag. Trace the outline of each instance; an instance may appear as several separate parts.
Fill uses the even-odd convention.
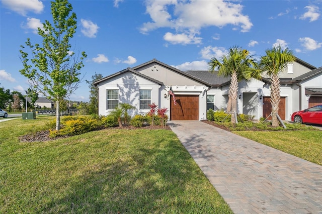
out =
[[[200,121],[168,125],[234,213],[322,214],[322,166]]]

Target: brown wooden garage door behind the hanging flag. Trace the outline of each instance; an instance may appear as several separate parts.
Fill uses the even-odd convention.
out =
[[[170,120],[172,121],[197,121],[199,120],[199,95],[175,95],[177,105],[171,96]]]

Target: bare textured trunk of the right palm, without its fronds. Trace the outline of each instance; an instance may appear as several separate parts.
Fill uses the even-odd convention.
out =
[[[272,127],[278,127],[278,104],[281,99],[280,79],[277,74],[272,75],[271,83],[271,104],[272,104]]]

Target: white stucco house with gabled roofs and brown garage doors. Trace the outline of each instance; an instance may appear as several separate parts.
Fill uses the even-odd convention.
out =
[[[206,70],[181,71],[156,59],[126,68],[94,82],[99,89],[99,115],[108,115],[118,103],[130,103],[146,114],[148,104],[168,108],[170,120],[206,120],[208,109],[225,110],[230,78]],[[290,120],[295,111],[322,103],[322,67],[316,68],[300,59],[288,65],[280,75],[281,102],[279,115]],[[169,95],[175,93],[177,105]],[[238,113],[255,119],[271,113],[270,79],[239,82]]]

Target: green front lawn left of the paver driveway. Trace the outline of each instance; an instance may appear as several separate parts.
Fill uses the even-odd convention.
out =
[[[172,131],[19,142],[49,119],[0,123],[0,213],[232,213]]]

